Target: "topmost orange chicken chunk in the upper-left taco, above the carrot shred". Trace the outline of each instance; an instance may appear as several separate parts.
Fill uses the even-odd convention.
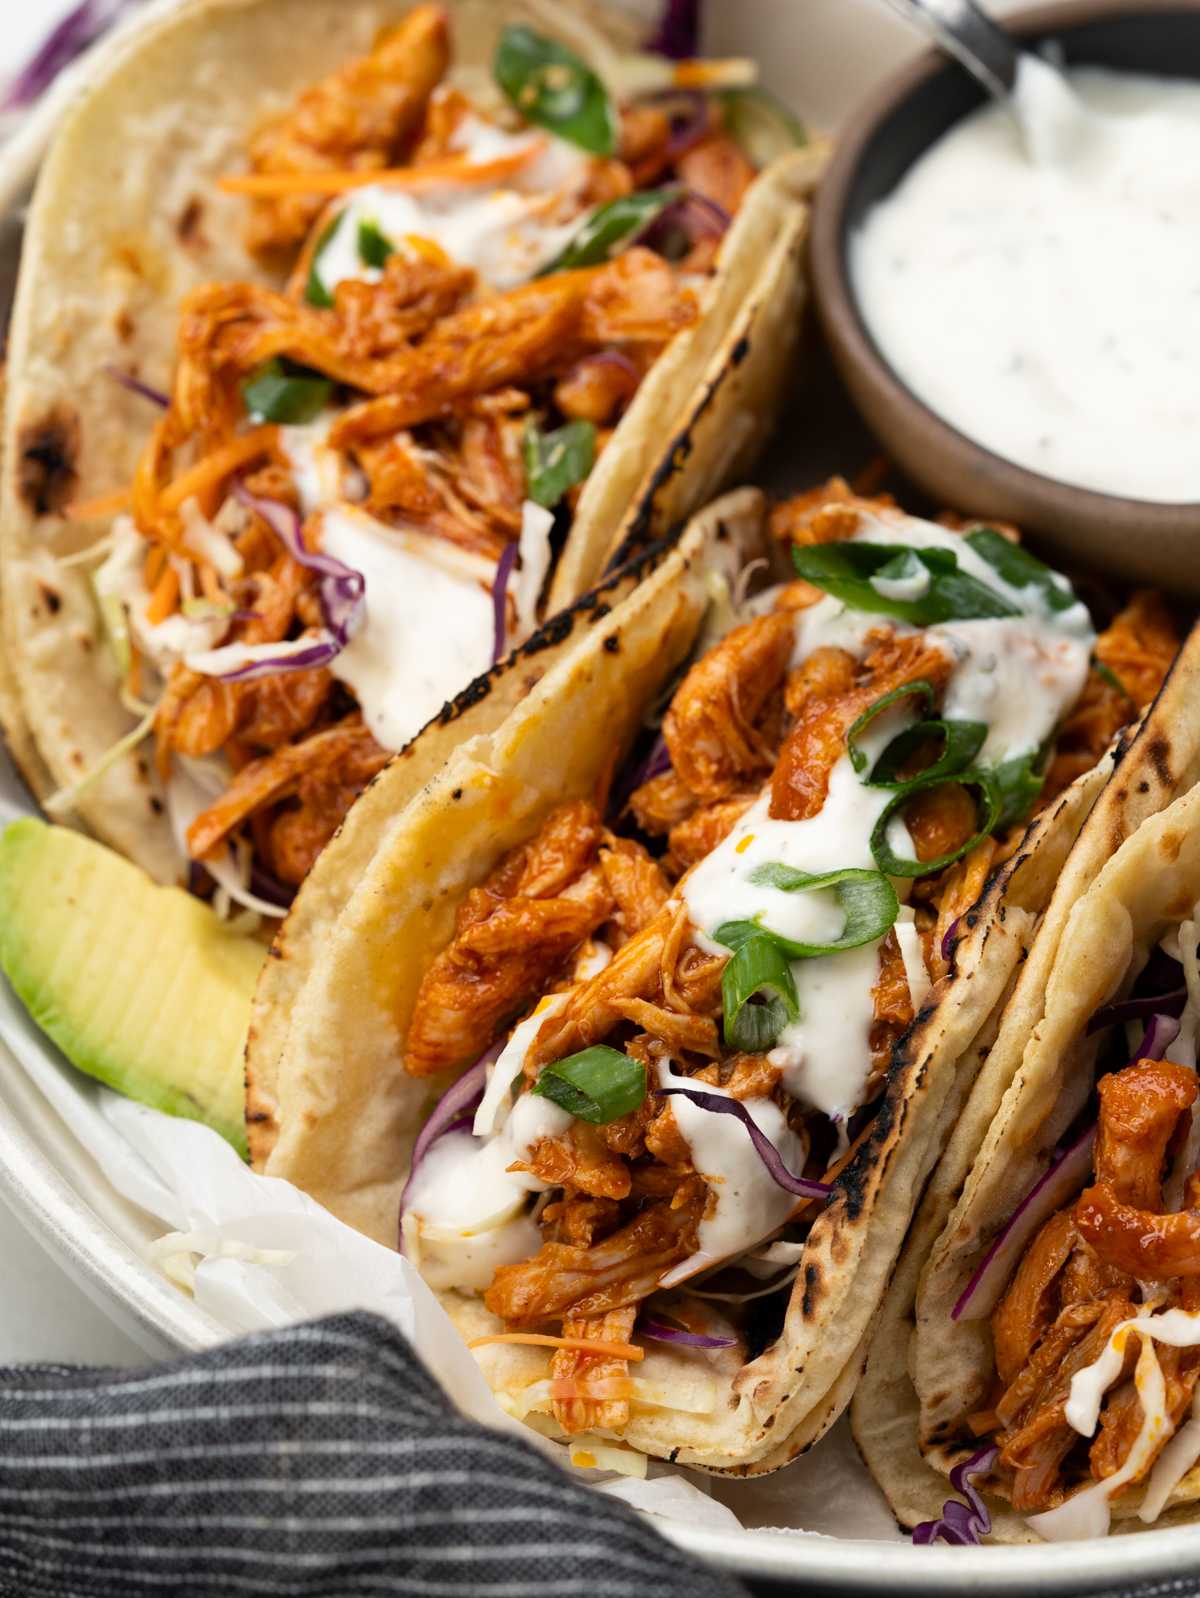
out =
[[[444,10],[419,5],[368,56],[348,61],[254,134],[256,173],[312,173],[387,166],[417,131],[449,66]],[[299,244],[321,211],[320,195],[257,200],[249,248],[272,256]]]

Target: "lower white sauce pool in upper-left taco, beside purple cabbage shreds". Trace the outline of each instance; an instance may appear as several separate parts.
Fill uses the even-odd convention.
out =
[[[366,622],[334,658],[385,749],[403,749],[492,663],[491,561],[387,527],[350,505],[321,518],[321,548],[366,578]]]

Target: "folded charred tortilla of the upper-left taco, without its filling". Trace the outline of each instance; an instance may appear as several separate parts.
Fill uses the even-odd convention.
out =
[[[190,0],[113,51],[59,128],[26,229],[0,486],[10,668],[0,721],[43,796],[77,783],[136,724],[118,697],[86,567],[62,564],[107,531],[104,519],[64,519],[64,508],[123,489],[155,420],[104,369],[169,387],[184,294],[214,280],[276,281],[243,246],[246,201],[221,193],[216,179],[240,168],[257,123],[369,50],[407,10],[380,0]],[[447,81],[467,89],[505,24],[556,35],[593,64],[639,38],[628,16],[593,0],[447,0]],[[701,318],[655,363],[583,487],[551,612],[591,588],[617,550],[625,559],[660,537],[761,446],[796,347],[805,197],[826,155],[820,142],[791,152],[749,190],[701,289]],[[433,743],[444,748],[436,735]],[[393,775],[388,805],[403,809],[420,786],[409,773],[433,764],[422,756]],[[152,767],[145,749],[126,754],[80,796],[77,817],[157,880],[174,882],[184,861]]]

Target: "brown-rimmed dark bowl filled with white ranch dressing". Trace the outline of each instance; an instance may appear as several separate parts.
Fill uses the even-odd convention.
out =
[[[1200,594],[1200,8],[1005,26],[1010,104],[928,54],[847,129],[813,217],[826,336],[935,499]]]

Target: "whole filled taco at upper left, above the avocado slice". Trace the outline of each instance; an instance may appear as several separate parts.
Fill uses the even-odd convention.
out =
[[[823,147],[748,62],[634,45],[586,0],[192,0],[112,53],[10,345],[0,714],[53,813],[283,914],[398,749],[745,467]]]

